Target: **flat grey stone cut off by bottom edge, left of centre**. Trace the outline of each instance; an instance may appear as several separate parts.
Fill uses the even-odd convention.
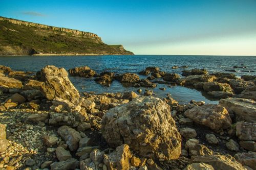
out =
[[[60,161],[60,162],[53,162],[51,166],[51,170],[69,170],[69,169],[75,169],[79,164],[79,161],[70,158],[66,161]]]

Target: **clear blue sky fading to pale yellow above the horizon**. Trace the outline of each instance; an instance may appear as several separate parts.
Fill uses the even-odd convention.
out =
[[[92,32],[135,54],[256,56],[256,0],[0,0],[0,16]]]

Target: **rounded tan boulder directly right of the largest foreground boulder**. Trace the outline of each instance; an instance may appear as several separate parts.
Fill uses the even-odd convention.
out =
[[[231,125],[231,118],[227,109],[220,105],[195,106],[186,110],[184,114],[194,122],[212,130],[227,129]]]

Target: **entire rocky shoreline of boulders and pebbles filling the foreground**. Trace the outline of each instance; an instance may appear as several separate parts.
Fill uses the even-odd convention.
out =
[[[158,67],[138,74],[0,66],[0,169],[256,169],[255,76],[191,69],[181,77]],[[69,75],[138,90],[80,93]],[[220,101],[180,105],[139,89],[157,83],[197,88]]]

